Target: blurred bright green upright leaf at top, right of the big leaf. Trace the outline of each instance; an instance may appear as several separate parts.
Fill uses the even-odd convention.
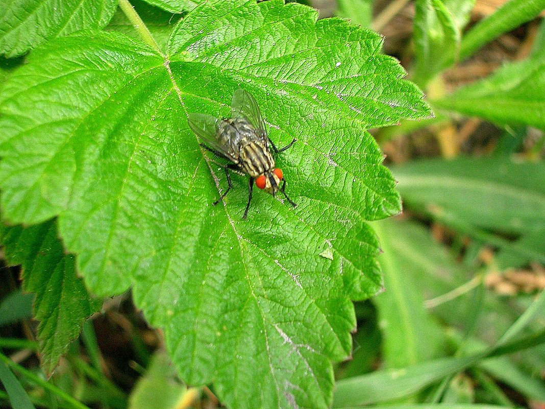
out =
[[[414,81],[421,87],[457,57],[460,32],[474,3],[474,0],[416,1]]]

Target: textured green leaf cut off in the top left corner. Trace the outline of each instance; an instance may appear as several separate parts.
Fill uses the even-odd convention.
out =
[[[117,0],[13,0],[0,11],[0,54],[16,57],[45,41],[84,28],[102,28]]]

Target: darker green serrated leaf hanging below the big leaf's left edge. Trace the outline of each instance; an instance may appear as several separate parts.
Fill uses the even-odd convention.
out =
[[[43,368],[51,374],[70,341],[101,303],[89,298],[76,276],[74,256],[64,254],[54,221],[23,228],[4,227],[0,243],[11,265],[22,264],[23,288],[35,293],[34,317]]]

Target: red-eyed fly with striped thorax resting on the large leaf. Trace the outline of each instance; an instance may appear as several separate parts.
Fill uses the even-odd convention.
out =
[[[265,121],[259,111],[259,106],[252,95],[237,89],[231,100],[231,118],[218,119],[204,113],[190,113],[187,122],[193,132],[202,140],[199,145],[214,153],[217,157],[231,163],[221,165],[225,169],[225,176],[229,187],[216,200],[219,203],[233,187],[229,170],[245,173],[250,176],[249,196],[243,219],[246,219],[252,200],[253,182],[259,189],[263,189],[275,196],[281,191],[286,200],[293,207],[297,206],[286,194],[286,179],[282,170],[275,167],[270,147],[275,153],[286,151],[295,143],[295,139],[287,146],[278,149],[267,136]],[[282,186],[280,183],[282,182]]]

